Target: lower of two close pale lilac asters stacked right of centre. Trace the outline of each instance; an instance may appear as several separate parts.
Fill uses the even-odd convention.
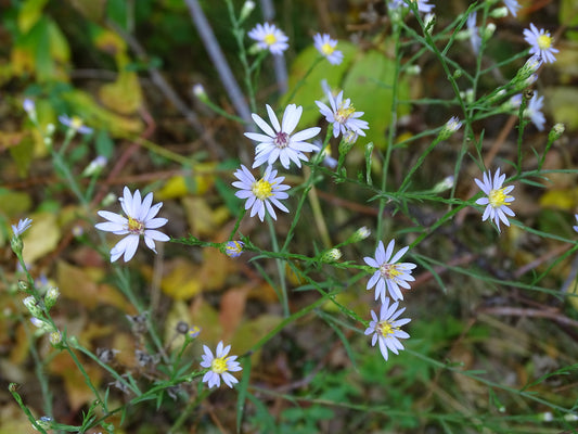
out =
[[[403,349],[403,345],[399,342],[400,339],[408,339],[410,335],[401,330],[401,326],[411,321],[409,318],[399,318],[403,314],[406,308],[397,309],[399,302],[389,306],[389,298],[386,298],[380,309],[380,317],[372,310],[370,326],[365,329],[364,334],[371,337],[371,345],[375,346],[375,343],[380,343],[380,350],[383,358],[387,361],[388,350],[394,354],[399,354],[400,349]]]

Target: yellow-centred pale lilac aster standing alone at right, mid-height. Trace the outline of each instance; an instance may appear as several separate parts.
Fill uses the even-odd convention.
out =
[[[508,193],[514,190],[514,186],[503,187],[504,180],[505,174],[500,175],[500,169],[496,170],[493,178],[491,171],[488,170],[484,173],[484,181],[475,179],[477,186],[487,195],[487,197],[480,197],[476,201],[478,205],[486,205],[481,221],[486,221],[488,218],[493,220],[498,232],[500,232],[500,221],[505,226],[510,226],[506,215],[511,217],[515,215],[509,208],[515,197],[508,195]]]

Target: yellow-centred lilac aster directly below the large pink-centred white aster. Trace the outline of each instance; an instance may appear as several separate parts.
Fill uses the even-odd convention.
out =
[[[277,170],[273,170],[271,166],[267,167],[262,178],[258,181],[243,165],[234,173],[234,176],[239,181],[233,182],[233,187],[241,190],[235,193],[235,196],[247,200],[245,209],[251,208],[251,217],[257,214],[262,221],[267,210],[273,220],[277,220],[273,205],[282,212],[288,213],[281,200],[288,197],[285,190],[288,190],[290,187],[282,183],[285,177],[277,177]]]

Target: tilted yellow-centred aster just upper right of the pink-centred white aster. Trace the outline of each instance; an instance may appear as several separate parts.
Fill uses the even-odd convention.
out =
[[[316,104],[319,107],[319,112],[325,116],[325,119],[333,124],[333,137],[337,137],[339,133],[345,136],[347,131],[365,136],[363,130],[369,128],[369,124],[359,119],[364,112],[356,112],[356,107],[354,107],[349,98],[344,101],[343,90],[336,98],[333,98],[333,93],[327,89],[326,95],[331,107],[321,101],[316,101]]]

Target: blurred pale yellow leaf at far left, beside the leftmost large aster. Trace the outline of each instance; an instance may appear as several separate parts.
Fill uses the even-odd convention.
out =
[[[61,239],[61,230],[54,213],[35,214],[31,219],[33,226],[23,237],[22,254],[26,264],[34,264],[37,259],[52,252]]]

